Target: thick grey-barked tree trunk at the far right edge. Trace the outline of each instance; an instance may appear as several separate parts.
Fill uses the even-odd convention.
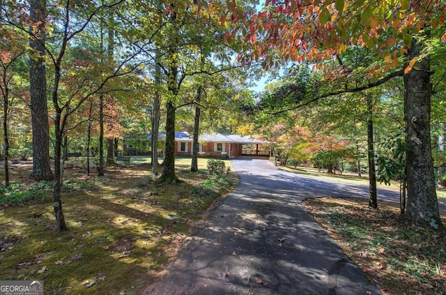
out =
[[[408,60],[420,58],[422,43],[414,39]],[[407,144],[406,216],[415,225],[444,229],[440,220],[431,155],[431,70],[430,57],[420,58],[404,75],[404,120]]]

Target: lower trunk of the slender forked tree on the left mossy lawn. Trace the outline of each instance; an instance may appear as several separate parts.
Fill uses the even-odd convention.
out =
[[[54,185],[53,185],[53,207],[54,215],[56,215],[56,225],[58,232],[68,230],[63,217],[62,210],[62,192],[61,192],[61,146],[63,130],[61,130],[61,114],[56,112],[54,120],[54,131],[56,132],[56,140],[54,142]]]

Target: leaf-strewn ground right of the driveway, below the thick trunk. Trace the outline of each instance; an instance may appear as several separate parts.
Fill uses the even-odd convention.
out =
[[[320,197],[302,204],[384,295],[444,294],[446,236],[408,224],[398,204]],[[445,218],[445,212],[441,212]]]

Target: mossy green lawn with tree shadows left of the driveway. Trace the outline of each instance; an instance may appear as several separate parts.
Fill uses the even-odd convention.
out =
[[[238,182],[231,173],[210,177],[206,159],[199,159],[201,172],[189,172],[190,158],[180,158],[176,173],[183,182],[157,185],[147,162],[132,157],[130,166],[107,167],[103,177],[66,169],[70,231],[61,234],[52,183],[28,181],[30,163],[11,165],[14,184],[0,197],[0,279],[43,280],[45,294],[139,294],[194,223]]]

